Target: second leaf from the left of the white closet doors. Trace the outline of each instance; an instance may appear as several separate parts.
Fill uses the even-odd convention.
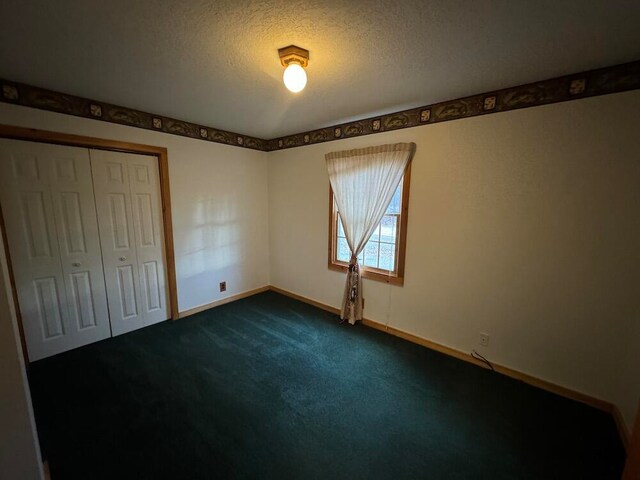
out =
[[[49,168],[69,315],[86,345],[111,336],[89,151],[56,147]]]

